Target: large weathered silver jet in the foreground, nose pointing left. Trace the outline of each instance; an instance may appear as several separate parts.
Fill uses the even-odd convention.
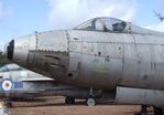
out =
[[[113,18],[94,18],[72,30],[15,38],[9,60],[79,87],[114,92],[116,103],[154,106],[164,114],[164,33]],[[146,113],[146,109],[141,114]]]

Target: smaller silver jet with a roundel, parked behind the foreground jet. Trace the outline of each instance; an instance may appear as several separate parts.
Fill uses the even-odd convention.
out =
[[[74,104],[75,98],[87,98],[89,90],[62,84],[53,79],[28,71],[17,64],[0,67],[0,97],[8,107],[15,98],[39,96],[65,96],[66,104]],[[100,97],[100,92],[95,92]]]

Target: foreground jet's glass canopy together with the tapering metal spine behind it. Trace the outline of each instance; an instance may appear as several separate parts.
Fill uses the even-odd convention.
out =
[[[85,31],[102,31],[110,33],[136,33],[136,34],[149,34],[163,36],[163,32],[157,32],[149,29],[143,29],[131,22],[125,22],[114,18],[94,18],[84,22],[83,24],[74,28],[75,30]]]

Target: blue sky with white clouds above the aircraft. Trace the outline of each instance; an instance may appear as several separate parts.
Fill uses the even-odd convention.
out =
[[[153,11],[164,15],[163,0],[0,0],[0,50],[35,31],[72,29],[95,17],[112,17],[164,31]]]

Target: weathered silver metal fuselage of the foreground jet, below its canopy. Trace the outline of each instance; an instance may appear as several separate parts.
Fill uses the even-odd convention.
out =
[[[78,86],[164,88],[161,35],[48,31],[17,39],[13,48],[12,61]]]

